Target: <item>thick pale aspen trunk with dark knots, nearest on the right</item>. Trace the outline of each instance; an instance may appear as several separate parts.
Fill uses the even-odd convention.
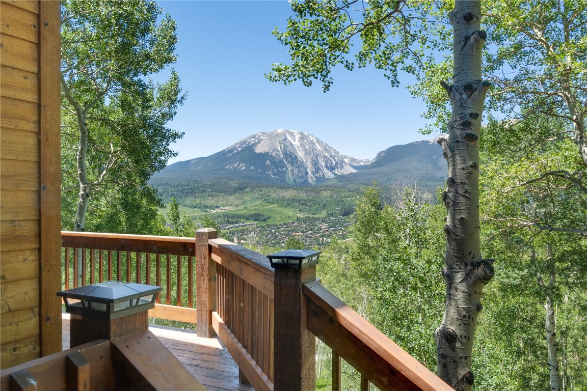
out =
[[[448,138],[438,140],[448,162],[447,237],[443,276],[446,304],[434,332],[437,374],[457,391],[473,389],[471,354],[481,291],[494,274],[493,260],[481,256],[479,223],[479,145],[481,114],[488,83],[481,81],[480,1],[457,0],[450,21],[454,30],[453,84],[441,82],[451,101]]]

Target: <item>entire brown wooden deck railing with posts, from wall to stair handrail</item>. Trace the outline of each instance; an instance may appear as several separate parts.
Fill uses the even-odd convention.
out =
[[[332,349],[333,390],[341,390],[341,359],[361,373],[361,390],[369,389],[369,383],[382,390],[451,390],[319,284],[314,267],[273,270],[265,256],[217,239],[212,229],[198,230],[195,240],[66,232],[62,237],[66,281],[76,251],[69,260],[67,254],[82,248],[97,251],[89,251],[83,262],[90,283],[104,276],[139,282],[139,276],[143,283],[162,285],[167,305],[158,304],[149,315],[197,322],[198,336],[220,336],[239,366],[241,381],[255,390],[309,389],[315,376],[314,336]],[[181,277],[170,278],[173,266],[176,276],[182,276],[184,263],[188,287]]]

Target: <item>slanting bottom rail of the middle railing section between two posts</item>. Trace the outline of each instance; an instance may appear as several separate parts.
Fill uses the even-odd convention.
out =
[[[247,349],[232,334],[224,321],[222,321],[220,315],[218,315],[218,312],[212,313],[212,327],[214,327],[214,331],[216,331],[222,343],[226,346],[228,352],[230,352],[232,358],[239,366],[239,369],[254,389],[257,391],[273,390],[274,385],[269,380],[269,377],[247,352]]]

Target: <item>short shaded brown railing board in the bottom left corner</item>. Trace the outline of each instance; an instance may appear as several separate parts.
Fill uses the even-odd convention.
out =
[[[76,352],[82,353],[92,368],[88,389],[110,390],[110,342],[103,339],[2,370],[0,389],[9,389],[9,378],[13,373],[27,370],[37,380],[39,391],[65,390],[67,387],[66,359],[68,355]]]

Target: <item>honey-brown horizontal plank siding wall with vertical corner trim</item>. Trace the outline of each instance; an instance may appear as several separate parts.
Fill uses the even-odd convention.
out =
[[[0,368],[61,350],[59,16],[0,2]]]

